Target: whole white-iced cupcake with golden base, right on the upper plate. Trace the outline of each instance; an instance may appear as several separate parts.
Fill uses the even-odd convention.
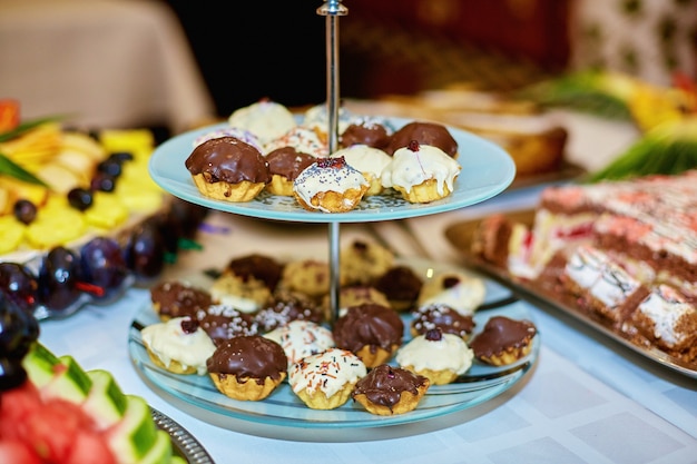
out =
[[[431,203],[454,191],[462,167],[443,150],[415,140],[397,149],[382,171],[382,185],[392,187],[409,203]]]

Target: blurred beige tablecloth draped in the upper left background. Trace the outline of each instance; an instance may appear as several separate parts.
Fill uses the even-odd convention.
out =
[[[147,0],[0,0],[0,98],[88,129],[178,132],[214,116],[177,18]]]

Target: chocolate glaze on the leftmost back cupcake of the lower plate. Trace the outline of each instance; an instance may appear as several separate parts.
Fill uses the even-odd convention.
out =
[[[213,297],[203,288],[178,280],[164,280],[150,287],[150,300],[157,306],[160,316],[195,317],[198,309],[210,306]]]

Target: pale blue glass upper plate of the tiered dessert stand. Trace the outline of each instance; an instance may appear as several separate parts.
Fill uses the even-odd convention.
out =
[[[395,128],[411,119],[389,118]],[[192,154],[194,140],[204,134],[228,127],[227,124],[208,126],[176,136],[155,149],[149,171],[153,179],[171,195],[187,201],[220,211],[267,219],[302,223],[367,223],[403,219],[451,211],[481,203],[503,191],[516,177],[516,164],[499,146],[470,132],[449,128],[459,145],[458,161],[462,171],[455,181],[455,190],[446,198],[430,204],[410,204],[394,190],[384,195],[364,197],[348,213],[314,213],[303,209],[295,198],[263,191],[247,203],[215,200],[202,195],[185,161]]]

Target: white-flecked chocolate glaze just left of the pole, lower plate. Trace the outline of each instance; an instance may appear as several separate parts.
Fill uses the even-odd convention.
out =
[[[303,294],[278,290],[271,304],[261,308],[255,320],[263,332],[271,332],[291,320],[302,319],[320,324],[324,318],[317,304]]]

